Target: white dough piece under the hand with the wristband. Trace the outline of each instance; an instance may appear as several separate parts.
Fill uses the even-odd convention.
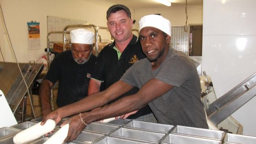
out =
[[[43,144],[62,144],[69,132],[69,124],[61,127],[52,137],[46,140]]]

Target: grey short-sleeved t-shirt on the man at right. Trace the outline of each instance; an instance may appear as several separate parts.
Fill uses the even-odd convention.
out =
[[[155,78],[173,85],[166,94],[148,103],[160,124],[208,128],[195,64],[186,54],[169,49],[163,63],[152,70],[147,58],[137,61],[121,80],[141,89]]]

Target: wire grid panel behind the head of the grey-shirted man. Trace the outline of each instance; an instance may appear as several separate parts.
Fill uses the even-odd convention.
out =
[[[189,35],[188,31],[184,31],[184,26],[172,26],[171,36],[172,48],[188,55]]]

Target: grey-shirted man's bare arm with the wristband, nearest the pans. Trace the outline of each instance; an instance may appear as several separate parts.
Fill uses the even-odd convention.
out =
[[[96,120],[120,116],[122,114],[140,109],[145,104],[162,96],[173,87],[173,85],[169,85],[157,79],[151,79],[139,90],[139,92],[137,92],[137,94],[126,96],[106,107],[96,109],[95,111],[82,113],[81,117],[86,124],[90,124]],[[64,141],[71,142],[72,140],[76,139],[76,137],[79,135],[78,132],[82,131],[85,125],[80,120],[79,115],[70,118],[61,125],[63,126],[67,123],[69,123],[69,133]]]

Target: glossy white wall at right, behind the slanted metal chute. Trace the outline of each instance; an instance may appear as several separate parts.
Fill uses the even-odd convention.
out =
[[[204,0],[202,70],[219,98],[256,72],[256,1]],[[232,116],[256,136],[256,98]]]

